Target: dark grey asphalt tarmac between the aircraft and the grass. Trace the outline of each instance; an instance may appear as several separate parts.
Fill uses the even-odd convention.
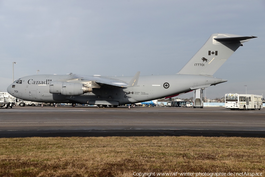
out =
[[[265,109],[26,106],[0,109],[0,138],[69,136],[265,137]]]

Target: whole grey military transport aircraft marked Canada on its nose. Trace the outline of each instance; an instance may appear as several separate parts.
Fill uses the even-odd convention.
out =
[[[14,97],[34,102],[81,103],[99,107],[138,103],[170,97],[227,80],[213,74],[238,49],[254,36],[212,34],[187,64],[173,75],[82,76],[32,75],[9,85]]]

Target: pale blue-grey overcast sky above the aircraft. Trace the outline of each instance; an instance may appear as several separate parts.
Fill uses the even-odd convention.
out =
[[[175,74],[213,33],[257,36],[213,75],[207,89],[265,94],[265,1],[0,0],[0,90],[27,75]],[[193,92],[181,95],[189,98]]]

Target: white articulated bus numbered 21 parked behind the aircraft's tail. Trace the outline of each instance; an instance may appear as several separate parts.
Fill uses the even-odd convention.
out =
[[[235,110],[262,109],[262,96],[250,94],[226,94],[225,108]]]

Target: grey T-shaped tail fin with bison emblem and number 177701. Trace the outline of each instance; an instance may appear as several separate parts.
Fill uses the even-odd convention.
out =
[[[255,36],[215,33],[177,74],[213,75],[226,60]]]

